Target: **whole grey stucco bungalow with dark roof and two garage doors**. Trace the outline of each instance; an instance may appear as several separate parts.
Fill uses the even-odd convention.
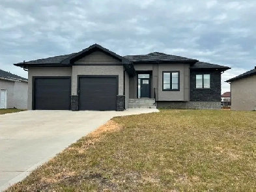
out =
[[[149,53],[121,57],[98,44],[15,64],[29,72],[28,109],[220,109],[227,66]]]

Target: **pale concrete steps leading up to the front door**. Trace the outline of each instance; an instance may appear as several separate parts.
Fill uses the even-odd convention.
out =
[[[130,99],[128,108],[148,108],[148,109],[156,109],[156,105],[154,104],[154,99]]]

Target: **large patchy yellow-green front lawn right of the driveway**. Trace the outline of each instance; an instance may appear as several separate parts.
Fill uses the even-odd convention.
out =
[[[238,111],[113,118],[9,190],[253,191],[255,125]]]

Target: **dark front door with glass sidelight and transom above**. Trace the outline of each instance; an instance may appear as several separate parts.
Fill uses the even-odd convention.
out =
[[[150,98],[150,74],[138,74],[137,77],[138,98]]]

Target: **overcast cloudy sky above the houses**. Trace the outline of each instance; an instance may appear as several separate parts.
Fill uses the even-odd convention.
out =
[[[159,51],[230,66],[225,81],[256,66],[255,10],[255,0],[0,0],[0,68],[27,77],[12,64],[97,43],[119,55]]]

